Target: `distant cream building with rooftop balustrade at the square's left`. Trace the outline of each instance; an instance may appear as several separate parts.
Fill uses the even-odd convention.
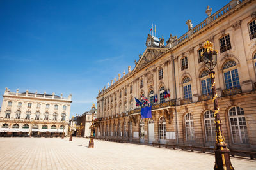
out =
[[[0,112],[1,136],[58,136],[67,135],[71,94],[38,94],[10,92],[3,95]]]

